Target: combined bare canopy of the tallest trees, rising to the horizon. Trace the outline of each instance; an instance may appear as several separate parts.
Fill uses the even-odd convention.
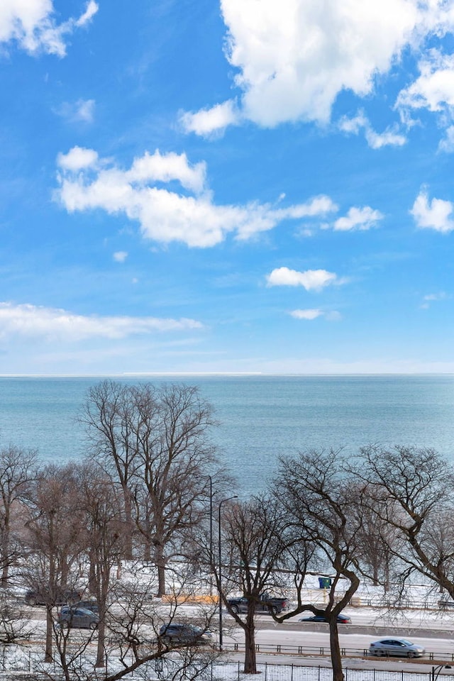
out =
[[[184,553],[206,515],[207,475],[217,465],[213,409],[194,386],[104,381],[90,389],[81,420],[95,460],[122,490],[126,558],[135,528],[165,594],[168,560]]]

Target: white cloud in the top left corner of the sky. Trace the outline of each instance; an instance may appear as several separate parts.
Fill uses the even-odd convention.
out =
[[[42,50],[64,57],[65,36],[86,26],[97,11],[96,2],[89,0],[79,18],[57,24],[52,0],[1,0],[0,43],[15,41],[27,52]]]

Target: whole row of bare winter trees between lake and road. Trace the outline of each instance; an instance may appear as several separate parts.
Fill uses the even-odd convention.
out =
[[[78,463],[43,465],[13,445],[0,451],[0,584],[4,593],[20,582],[45,594],[44,660],[57,657],[67,681],[89,680],[80,660],[92,641],[96,668],[109,646],[123,660],[108,681],[170,652],[182,668],[198,660],[203,675],[220,650],[202,654],[158,636],[162,599],[165,621],[175,621],[194,591],[219,594],[245,635],[244,671],[254,673],[255,606],[290,580],[292,609],[270,616],[326,616],[333,681],[343,681],[337,616],[361,580],[399,599],[423,575],[454,599],[454,470],[435,450],[303,449],[279,459],[265,492],[244,499],[221,465],[214,411],[196,387],[104,381],[89,389],[79,419],[87,457]],[[126,565],[128,580],[118,579]],[[304,600],[309,572],[331,576],[323,607]],[[99,605],[98,631],[83,643],[55,621],[57,594],[81,584]],[[228,602],[238,592],[244,617]],[[216,604],[201,606],[202,629],[216,616]],[[5,605],[4,643],[23,634],[13,619]]]

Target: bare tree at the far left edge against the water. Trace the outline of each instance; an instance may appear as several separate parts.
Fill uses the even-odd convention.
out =
[[[22,551],[14,541],[13,528],[22,516],[31,482],[35,479],[37,454],[9,445],[0,451],[0,586],[6,587],[9,569]]]

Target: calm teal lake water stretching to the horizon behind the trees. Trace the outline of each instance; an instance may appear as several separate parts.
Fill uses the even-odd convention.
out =
[[[115,379],[117,380],[117,379]],[[160,383],[161,378],[147,378]],[[143,382],[143,379],[122,379]],[[212,436],[239,487],[265,487],[279,455],[362,445],[433,447],[454,460],[454,376],[172,377],[198,385],[220,422]],[[96,378],[0,378],[0,445],[43,460],[84,453],[77,423]]]

